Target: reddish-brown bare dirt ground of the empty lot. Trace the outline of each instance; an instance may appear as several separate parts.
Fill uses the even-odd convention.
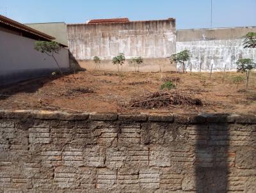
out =
[[[236,84],[232,77],[244,74],[173,73],[162,74],[163,80],[178,77],[177,92],[200,98],[203,105],[169,105],[144,109],[131,107],[131,98],[159,92],[160,73],[124,72],[122,82],[117,72],[78,72],[65,77],[48,77],[20,82],[0,89],[0,109],[61,110],[70,112],[219,112],[256,114],[256,74],[251,74],[248,92],[245,81]],[[65,91],[63,78],[67,84]],[[163,82],[162,82],[163,83]],[[71,109],[71,110],[68,110]]]

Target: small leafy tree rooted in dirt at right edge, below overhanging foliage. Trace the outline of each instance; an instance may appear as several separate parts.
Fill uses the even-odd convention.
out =
[[[253,68],[256,68],[256,63],[253,62],[250,58],[242,58],[236,62],[237,72],[246,73],[246,91],[248,90],[248,82],[250,73]]]

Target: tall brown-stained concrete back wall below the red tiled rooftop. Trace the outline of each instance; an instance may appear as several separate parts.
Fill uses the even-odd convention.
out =
[[[175,70],[167,58],[175,52],[175,33],[174,19],[67,25],[70,52],[76,59],[83,60],[83,67],[89,69],[94,68],[93,56],[99,56],[104,60],[102,70],[116,70],[111,59],[119,52],[124,53],[127,59],[145,58],[143,66],[147,71],[159,70],[156,64],[159,59],[164,61],[166,70]],[[133,67],[127,62],[124,70],[132,71]]]

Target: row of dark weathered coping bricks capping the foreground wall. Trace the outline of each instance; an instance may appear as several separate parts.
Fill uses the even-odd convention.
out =
[[[178,123],[248,123],[255,124],[253,114],[118,114],[115,112],[68,113],[60,111],[0,110],[0,119],[22,118],[66,121],[178,122]]]

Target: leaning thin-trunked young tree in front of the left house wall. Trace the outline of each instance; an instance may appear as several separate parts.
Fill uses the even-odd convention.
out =
[[[54,61],[56,62],[56,65],[58,66],[58,69],[59,69],[61,75],[63,75],[61,67],[55,58],[55,54],[59,54],[59,52],[61,50],[61,46],[59,43],[53,42],[53,41],[52,42],[36,41],[35,42],[35,50],[40,51],[44,54],[47,54],[47,56],[51,56],[54,59]],[[64,78],[63,78],[63,82],[64,82],[65,90],[67,91],[66,82],[65,82]]]

